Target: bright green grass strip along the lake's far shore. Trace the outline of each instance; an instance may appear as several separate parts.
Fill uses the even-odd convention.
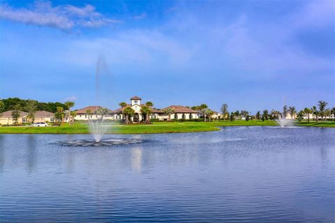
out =
[[[120,125],[119,123],[108,123],[111,125],[107,133],[114,134],[138,134],[138,133],[169,133],[169,132],[205,132],[220,130],[219,126],[251,126],[251,125],[278,125],[276,121],[214,121],[204,122],[157,122],[151,125],[132,124]],[[311,122],[299,123],[297,125],[316,126],[316,127],[335,127],[335,122]],[[85,123],[75,123],[74,125],[65,124],[64,126],[50,127],[27,127],[9,126],[0,127],[0,134],[22,133],[22,134],[80,134],[89,133]]]

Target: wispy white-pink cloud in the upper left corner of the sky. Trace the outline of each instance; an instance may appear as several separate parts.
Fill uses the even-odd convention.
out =
[[[69,30],[75,27],[98,27],[121,22],[103,16],[91,5],[82,8],[71,5],[53,7],[50,1],[36,1],[31,8],[13,8],[7,4],[1,4],[0,18],[61,30]]]

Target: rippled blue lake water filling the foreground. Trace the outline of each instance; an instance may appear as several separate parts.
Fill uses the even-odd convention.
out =
[[[1,222],[334,222],[335,131],[0,135]]]

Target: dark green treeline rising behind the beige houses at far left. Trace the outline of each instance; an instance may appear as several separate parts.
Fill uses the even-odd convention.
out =
[[[22,111],[28,112],[26,111],[28,101],[29,100],[23,100],[20,98],[1,99],[0,113],[12,110],[15,105],[20,105]],[[35,101],[37,102],[36,111],[47,111],[55,113],[57,112],[57,107],[63,107],[64,110],[68,109],[68,107],[61,102],[38,102],[37,100]]]

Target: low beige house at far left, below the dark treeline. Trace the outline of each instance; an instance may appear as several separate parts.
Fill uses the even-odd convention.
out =
[[[0,124],[1,125],[13,125],[14,120],[12,117],[12,110],[3,112],[0,116]],[[23,123],[30,123],[29,118],[27,118],[28,113],[20,111],[20,117],[17,118],[17,123],[23,124]],[[54,121],[54,114],[52,112],[47,111],[37,111],[34,114],[34,123],[43,123],[43,122],[53,122]]]

